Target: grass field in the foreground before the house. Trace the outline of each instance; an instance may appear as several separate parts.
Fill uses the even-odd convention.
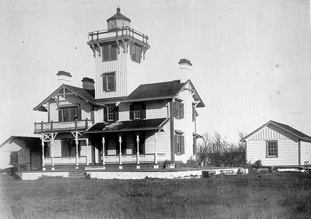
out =
[[[0,218],[311,218],[311,174],[0,179]]]

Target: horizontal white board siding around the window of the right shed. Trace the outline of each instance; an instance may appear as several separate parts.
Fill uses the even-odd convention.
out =
[[[247,162],[254,163],[256,160],[261,160],[263,166],[298,165],[297,142],[291,139],[278,139],[277,150],[277,157],[266,157],[266,140],[247,141]]]

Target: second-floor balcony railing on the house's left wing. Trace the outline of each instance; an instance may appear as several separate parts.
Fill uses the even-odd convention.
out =
[[[83,130],[88,129],[92,125],[92,120],[87,119],[72,122],[34,122],[34,133]]]

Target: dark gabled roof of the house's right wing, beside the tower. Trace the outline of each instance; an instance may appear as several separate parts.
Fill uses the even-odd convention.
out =
[[[136,90],[131,92],[124,101],[125,102],[134,102],[134,101],[151,101],[157,99],[173,99],[176,97],[182,89],[189,83],[194,89],[196,99],[201,102],[198,104],[198,107],[203,107],[203,101],[201,97],[198,96],[198,92],[194,88],[194,85],[191,83],[191,80],[187,80],[186,83],[180,83],[178,80],[167,81],[162,83],[152,83],[139,85]]]

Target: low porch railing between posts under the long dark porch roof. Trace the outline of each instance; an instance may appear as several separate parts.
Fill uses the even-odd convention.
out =
[[[105,155],[103,162],[106,164],[119,164],[120,162],[120,157],[119,155]],[[164,162],[165,159],[165,154],[158,153],[157,154],[157,162]],[[121,155],[121,162],[122,164],[135,164],[137,163],[142,164],[150,164],[155,162],[155,154],[141,154],[138,155],[138,160],[137,160],[137,155]]]

